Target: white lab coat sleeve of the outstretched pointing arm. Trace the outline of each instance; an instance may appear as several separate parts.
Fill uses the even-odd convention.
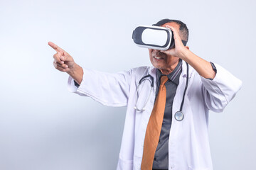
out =
[[[68,78],[68,89],[80,96],[90,96],[105,106],[127,106],[132,69],[110,74],[83,69],[82,82],[76,87],[72,77]]]

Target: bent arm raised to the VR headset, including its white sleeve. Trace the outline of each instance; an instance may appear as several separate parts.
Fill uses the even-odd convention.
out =
[[[171,26],[166,27],[171,28],[174,32],[175,48],[161,52],[179,57],[190,64],[201,76],[203,98],[206,107],[215,112],[223,111],[225,106],[227,106],[240,90],[242,81],[218,64],[215,64],[218,72],[216,74],[210,62],[193,54],[188,47],[184,47],[178,35],[178,30]]]

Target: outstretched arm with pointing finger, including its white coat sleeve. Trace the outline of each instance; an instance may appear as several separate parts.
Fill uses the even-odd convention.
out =
[[[53,55],[53,65],[60,72],[70,75],[68,89],[81,96],[90,96],[105,106],[127,106],[132,70],[109,74],[90,69],[82,69],[68,52],[48,42],[57,52]],[[80,85],[75,86],[74,80]]]

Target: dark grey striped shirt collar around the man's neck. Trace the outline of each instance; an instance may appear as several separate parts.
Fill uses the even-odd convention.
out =
[[[170,74],[166,75],[168,77],[169,80],[173,81],[175,84],[178,85],[179,83],[179,76],[181,74],[181,70],[182,70],[182,60],[180,59],[178,61],[177,66],[175,67],[174,71],[172,71]],[[165,74],[162,74],[161,71],[159,69],[157,69],[156,71],[156,79],[159,81],[159,79],[161,78],[161,76],[164,76]]]

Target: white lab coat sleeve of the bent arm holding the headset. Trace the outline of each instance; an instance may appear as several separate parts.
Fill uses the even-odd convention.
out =
[[[241,89],[242,81],[234,77],[220,65],[215,64],[217,73],[213,80],[201,77],[203,97],[210,111],[222,112],[225,106]]]

